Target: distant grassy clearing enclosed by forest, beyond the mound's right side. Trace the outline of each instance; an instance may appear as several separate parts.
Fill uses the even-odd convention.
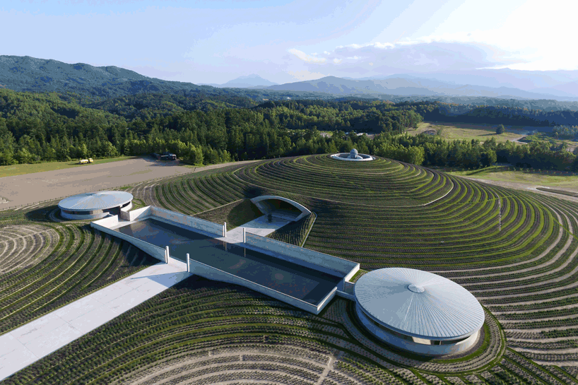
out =
[[[497,124],[466,124],[466,123],[443,123],[443,122],[421,122],[417,129],[408,129],[410,135],[418,135],[427,130],[442,130],[442,138],[448,140],[478,139],[483,142],[492,137],[499,142],[512,141],[526,134],[530,134],[534,127],[531,126],[505,126],[506,132],[502,135],[496,134]]]

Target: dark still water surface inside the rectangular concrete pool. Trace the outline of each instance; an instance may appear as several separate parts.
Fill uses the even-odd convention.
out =
[[[119,227],[117,231],[163,249],[168,246],[172,258],[186,261],[189,253],[195,261],[311,304],[318,304],[341,280],[152,218]]]

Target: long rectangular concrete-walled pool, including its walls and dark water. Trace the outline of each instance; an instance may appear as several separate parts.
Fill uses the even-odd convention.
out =
[[[225,225],[154,206],[95,220],[90,226],[160,261],[183,261],[197,276],[242,285],[313,314],[344,289],[360,266],[249,232],[243,232],[240,241],[232,239]]]

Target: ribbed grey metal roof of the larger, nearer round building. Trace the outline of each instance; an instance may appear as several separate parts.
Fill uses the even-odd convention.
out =
[[[484,312],[452,280],[413,268],[381,268],[355,283],[355,298],[374,321],[406,336],[446,340],[471,336]]]

